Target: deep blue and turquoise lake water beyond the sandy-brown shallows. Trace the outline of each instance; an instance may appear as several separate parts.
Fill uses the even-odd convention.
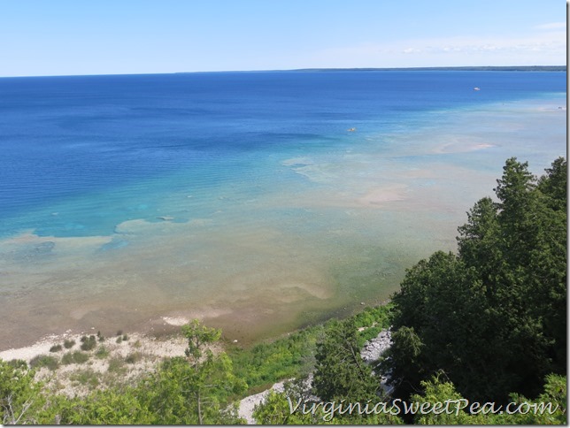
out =
[[[271,180],[275,164],[266,160],[273,154],[342,150],[354,144],[346,133],[350,127],[360,134],[396,133],[428,126],[433,111],[476,110],[565,91],[566,73],[0,79],[0,235],[23,229],[55,236],[109,234],[127,218],[155,218],[160,195],[173,186],[164,179],[172,174],[183,174],[202,192],[235,180]],[[113,192],[127,192],[143,180],[147,195],[140,203],[116,206]],[[73,198],[86,196],[91,204],[81,210]],[[57,216],[47,216],[55,206]]]

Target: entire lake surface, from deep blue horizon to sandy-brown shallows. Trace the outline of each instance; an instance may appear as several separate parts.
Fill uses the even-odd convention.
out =
[[[507,157],[541,173],[566,154],[565,85],[505,72],[0,80],[0,348],[163,317],[253,340],[380,302],[404,268],[455,248]]]

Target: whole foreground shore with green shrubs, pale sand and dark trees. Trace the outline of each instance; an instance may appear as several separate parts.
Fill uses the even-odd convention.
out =
[[[566,424],[566,159],[545,171],[508,159],[497,199],[475,203],[458,227],[457,254],[421,260],[390,302],[351,317],[249,348],[196,319],[162,354],[118,331],[0,360],[2,422],[243,424],[237,403],[285,381],[253,410],[259,424]],[[366,363],[366,340],[387,329],[389,348]],[[127,375],[140,362],[150,363]],[[323,404],[447,401],[519,410],[334,414]]]

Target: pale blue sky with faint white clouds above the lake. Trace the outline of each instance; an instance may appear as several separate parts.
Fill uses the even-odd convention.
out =
[[[566,65],[564,0],[0,0],[0,76]]]

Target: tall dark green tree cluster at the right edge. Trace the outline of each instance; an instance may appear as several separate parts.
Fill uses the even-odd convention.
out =
[[[439,369],[467,398],[493,401],[566,374],[566,160],[537,180],[508,159],[495,191],[458,228],[458,255],[420,261],[393,296],[385,364],[402,397]]]

